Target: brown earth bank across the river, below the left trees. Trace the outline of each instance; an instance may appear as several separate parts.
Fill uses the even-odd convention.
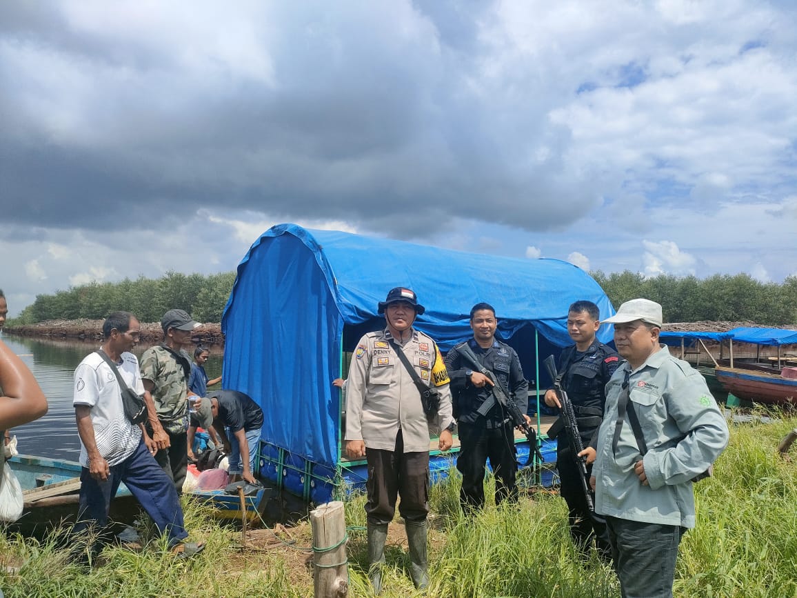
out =
[[[26,326],[6,326],[4,330],[10,334],[18,334],[20,336],[99,340],[102,339],[102,324],[102,320],[50,320]],[[157,343],[162,339],[163,330],[160,328],[160,322],[142,323],[142,341]],[[222,344],[224,342],[222,325],[204,324],[194,331],[191,339],[194,340],[194,343]]]

